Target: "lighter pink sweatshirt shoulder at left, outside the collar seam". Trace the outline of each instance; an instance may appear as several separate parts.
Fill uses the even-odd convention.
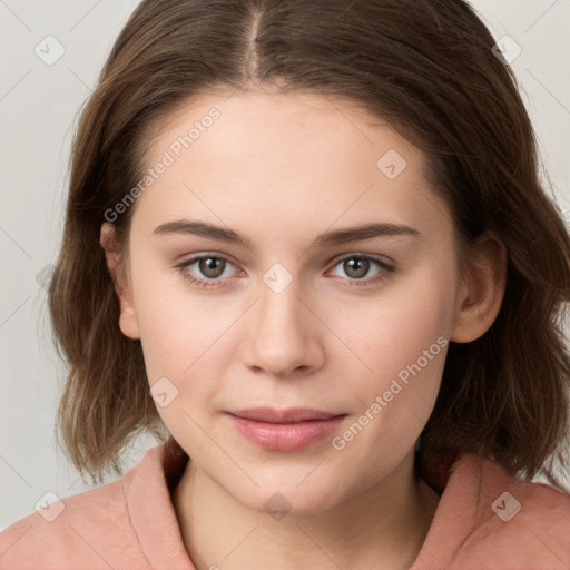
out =
[[[124,491],[134,470],[117,481],[39,507],[4,529],[2,569],[144,564]]]

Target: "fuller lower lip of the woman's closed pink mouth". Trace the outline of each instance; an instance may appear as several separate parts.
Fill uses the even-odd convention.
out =
[[[267,423],[232,414],[228,416],[242,435],[266,450],[274,451],[294,451],[306,448],[328,435],[345,417],[345,415],[335,415],[328,420]]]

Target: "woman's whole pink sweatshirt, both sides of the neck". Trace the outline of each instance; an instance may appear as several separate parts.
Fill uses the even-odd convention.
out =
[[[14,522],[0,533],[0,568],[195,570],[169,492],[186,461],[169,440],[121,479]],[[432,469],[443,493],[411,570],[570,568],[570,497],[471,453],[449,466]]]

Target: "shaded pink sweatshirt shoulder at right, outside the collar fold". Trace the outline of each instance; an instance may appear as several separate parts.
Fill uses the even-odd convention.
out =
[[[463,499],[475,522],[451,568],[570,568],[570,497],[521,481],[502,465],[466,454],[460,460]]]

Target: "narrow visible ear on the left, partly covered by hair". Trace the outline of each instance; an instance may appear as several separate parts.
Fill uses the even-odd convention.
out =
[[[101,225],[100,244],[105,249],[107,267],[115,284],[115,292],[119,298],[120,316],[119,327],[125,336],[140,338],[137,315],[132,303],[132,294],[126,277],[126,267],[122,265],[120,254],[117,252],[115,226],[109,222]]]

